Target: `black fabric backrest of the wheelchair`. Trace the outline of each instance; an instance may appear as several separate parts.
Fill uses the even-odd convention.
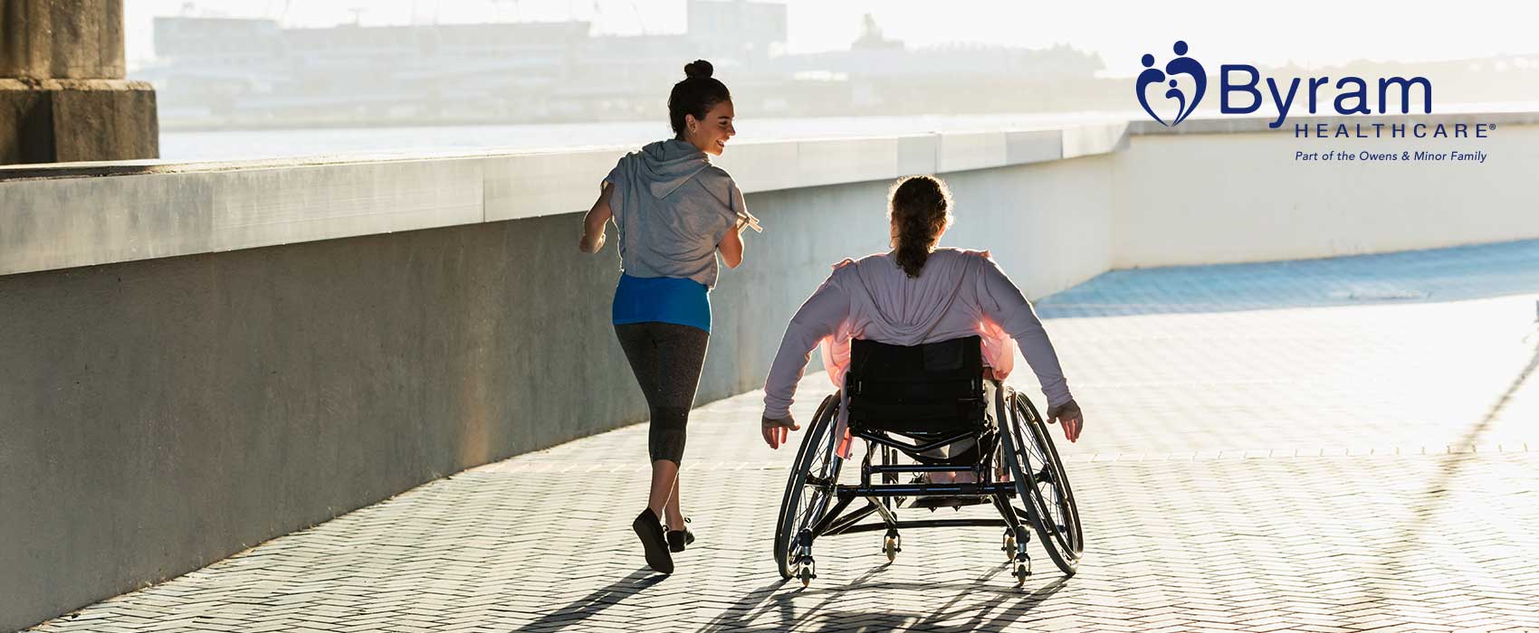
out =
[[[857,429],[925,432],[983,421],[979,336],[919,346],[850,344],[850,421]]]

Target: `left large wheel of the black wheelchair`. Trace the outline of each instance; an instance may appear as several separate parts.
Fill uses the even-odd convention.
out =
[[[790,579],[800,575],[805,585],[814,575],[810,561],[803,561],[803,547],[811,545],[811,530],[828,512],[834,496],[834,484],[839,482],[839,466],[843,462],[834,455],[837,439],[834,436],[834,418],[839,415],[839,392],[823,398],[819,404],[813,423],[802,438],[802,449],[796,453],[796,464],[786,478],[785,498],[780,501],[780,519],[774,529],[774,561],[780,567],[780,578]]]

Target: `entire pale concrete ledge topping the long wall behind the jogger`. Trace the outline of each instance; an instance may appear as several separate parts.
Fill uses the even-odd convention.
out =
[[[743,143],[716,163],[759,194],[1107,154],[1122,131]],[[628,151],[11,166],[0,275],[573,214]]]

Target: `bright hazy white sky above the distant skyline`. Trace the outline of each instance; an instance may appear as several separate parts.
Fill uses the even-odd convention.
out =
[[[591,20],[597,34],[680,32],[683,0],[126,0],[128,54],[152,55],[151,20],[194,15],[283,17],[288,26],[494,20]],[[1536,54],[1539,3],[1513,0],[1250,5],[1196,2],[785,0],[790,52],[845,49],[873,12],[910,46],[985,43],[1100,52],[1110,75],[1134,75],[1139,55],[1171,57],[1174,40],[1208,63],[1336,65],[1350,60],[1447,60]],[[286,9],[285,9],[286,8]]]

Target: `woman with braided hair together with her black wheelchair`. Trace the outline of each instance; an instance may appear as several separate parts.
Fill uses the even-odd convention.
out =
[[[897,550],[897,527],[903,527],[893,516],[900,502],[893,499],[899,495],[916,498],[916,505],[926,505],[917,498],[930,492],[948,495],[945,505],[960,505],[962,501],[951,502],[957,499],[956,495],[1008,505],[1016,489],[1014,482],[1005,482],[1011,479],[1013,470],[1002,464],[1011,462],[1011,458],[996,455],[1000,439],[1020,452],[1020,464],[1033,470],[1037,467],[1033,464],[1040,461],[1037,458],[1053,450],[1051,441],[1045,438],[1045,427],[1040,432],[1042,441],[1033,441],[1034,436],[1022,436],[1023,432],[1011,438],[1003,426],[996,424],[1003,423],[1007,409],[1025,413],[1030,407],[1023,395],[1002,392],[1005,387],[1000,381],[1013,369],[1016,343],[1047,395],[1047,419],[1059,423],[1070,441],[1079,439],[1083,426],[1053,343],[1020,289],[1005,277],[986,250],[936,247],[951,226],[951,194],[946,184],[934,177],[900,180],[890,191],[888,217],[893,250],[834,264],[828,280],[786,326],[765,381],[762,433],[771,449],[788,442],[790,432],[800,429],[791,418],[790,407],[813,347],[822,344],[830,378],[836,386],[845,387],[825,399],[819,419],[808,430],[797,461],[799,469],[813,472],[793,473],[785,499],[785,505],[797,507],[782,509],[780,530],[785,533],[777,538],[780,573],[786,578],[800,575],[803,582],[813,578],[811,539],[828,533],[860,532],[853,527],[854,521],[837,518],[848,498],[866,498],[873,507],[865,515],[882,515],[888,529],[883,550],[890,558]],[[946,384],[954,384],[954,389],[945,387]],[[922,392],[933,398],[925,399]],[[1034,409],[1030,413],[1034,416]],[[937,424],[942,418],[943,423]],[[968,424],[963,423],[970,418],[977,418],[973,427],[976,430],[959,435],[957,429],[966,429]],[[1037,424],[1040,426],[1040,419]],[[871,452],[882,452],[883,466],[876,467],[870,466],[868,452],[862,466],[863,481],[879,472],[883,481],[896,482],[897,472],[917,472],[920,475],[916,484],[950,486],[833,486],[839,481],[839,462],[850,458],[850,430],[868,439]],[[900,442],[896,436],[911,441]],[[1042,447],[1043,441],[1047,447]],[[1033,453],[1033,447],[1040,450]],[[919,464],[896,466],[897,452]],[[1051,461],[1053,469],[1060,469],[1056,455]],[[1043,475],[1050,473],[1022,472],[1014,479],[1051,479]],[[982,479],[996,482],[983,486]],[[1062,515],[1062,496],[1068,496],[1067,479],[1059,476],[1043,486],[1048,486],[1048,496],[1059,495],[1056,509]],[[805,493],[799,490],[802,487],[806,489]],[[1040,501],[1043,498],[1036,496],[1034,490],[1020,489],[1016,495],[1027,505],[1025,510],[1007,512],[1000,505],[1000,513],[1007,515],[1007,555],[1017,561],[1017,578],[1022,581],[1030,573],[1023,550],[1027,538],[1013,516],[1054,510],[1050,507],[1053,502]],[[1039,501],[1028,501],[1028,496]],[[1073,510],[1073,499],[1067,502],[1068,510]],[[802,509],[803,504],[808,507]],[[1045,522],[1051,524],[1047,525],[1050,530],[1077,533],[1077,516],[1073,521],[1059,516]],[[1067,525],[1070,522],[1073,525]],[[1040,535],[1042,525],[1037,527]],[[1042,538],[1048,539],[1047,535]],[[1068,541],[1076,542],[1063,542],[1065,552],[1060,553],[1077,561],[1077,538]],[[1057,559],[1054,555],[1054,561]],[[1065,565],[1060,562],[1060,567]],[[1065,573],[1073,572],[1065,568]]]

